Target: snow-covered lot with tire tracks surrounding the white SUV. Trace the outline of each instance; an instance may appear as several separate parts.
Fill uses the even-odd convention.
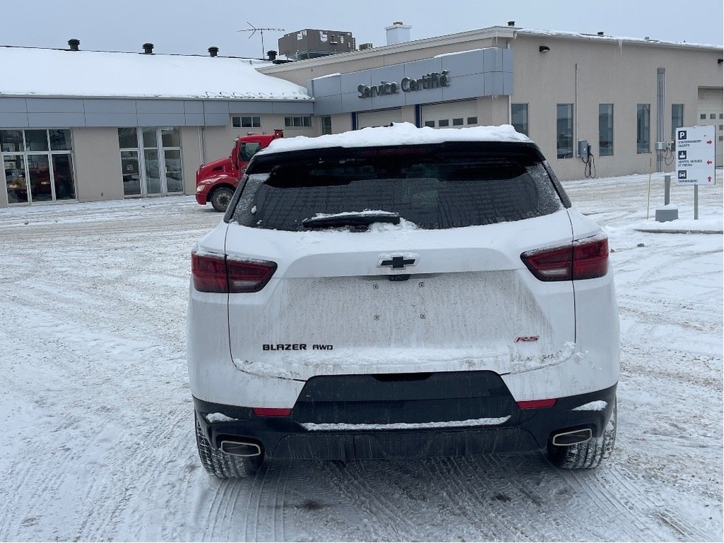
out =
[[[0,540],[721,541],[722,235],[635,230],[663,203],[654,176],[646,222],[647,182],[565,183],[610,236],[621,321],[615,454],[576,472],[533,454],[216,480],[185,311],[219,214],[190,196],[0,209]],[[721,172],[699,198],[721,230]],[[672,201],[691,230],[693,188]]]

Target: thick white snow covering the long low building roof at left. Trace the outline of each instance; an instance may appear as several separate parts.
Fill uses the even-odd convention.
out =
[[[0,47],[0,96],[311,100],[249,59]]]

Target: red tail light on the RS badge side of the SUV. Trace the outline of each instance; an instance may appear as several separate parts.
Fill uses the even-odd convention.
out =
[[[521,260],[541,281],[603,277],[608,271],[608,238],[586,237],[565,247],[527,251]]]

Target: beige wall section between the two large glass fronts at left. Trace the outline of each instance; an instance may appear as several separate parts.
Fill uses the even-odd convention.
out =
[[[77,201],[123,198],[117,128],[74,128],[73,161]]]

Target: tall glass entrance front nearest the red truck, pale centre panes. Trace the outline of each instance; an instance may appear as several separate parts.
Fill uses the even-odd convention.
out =
[[[183,192],[178,127],[119,128],[123,195]]]

